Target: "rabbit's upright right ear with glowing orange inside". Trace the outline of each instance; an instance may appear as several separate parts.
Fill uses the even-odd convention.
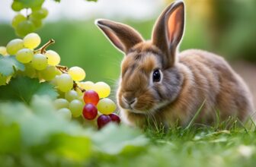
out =
[[[152,43],[165,53],[167,66],[174,65],[175,52],[184,32],[184,2],[174,2],[165,8],[152,33]]]

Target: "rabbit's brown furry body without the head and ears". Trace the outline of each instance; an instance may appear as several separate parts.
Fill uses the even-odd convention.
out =
[[[174,73],[174,74],[173,74]],[[202,106],[196,123],[213,124],[237,116],[245,121],[253,112],[252,97],[242,78],[219,55],[196,49],[178,53],[178,62],[163,74],[179,76],[178,95],[150,115],[121,109],[127,124],[143,127],[148,118],[158,124],[186,125]],[[173,79],[173,78],[172,78]],[[171,89],[172,87],[170,87]],[[169,94],[171,90],[163,90]]]

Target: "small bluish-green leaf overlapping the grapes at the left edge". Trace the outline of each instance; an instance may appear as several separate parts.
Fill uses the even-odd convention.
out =
[[[24,71],[25,66],[17,61],[14,55],[0,55],[0,74],[2,74],[4,77],[8,77],[18,70]]]

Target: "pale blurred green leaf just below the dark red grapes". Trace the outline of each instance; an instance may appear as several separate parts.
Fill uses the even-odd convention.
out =
[[[92,136],[94,146],[97,150],[111,155],[133,152],[137,148],[145,147],[148,140],[140,131],[126,127],[109,124],[106,128]]]

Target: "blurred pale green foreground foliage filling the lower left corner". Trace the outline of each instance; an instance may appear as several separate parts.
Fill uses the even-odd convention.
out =
[[[11,166],[85,165],[98,153],[133,153],[147,143],[142,134],[125,126],[110,124],[95,132],[66,121],[47,96],[34,96],[29,106],[2,102],[0,129],[0,159]]]

